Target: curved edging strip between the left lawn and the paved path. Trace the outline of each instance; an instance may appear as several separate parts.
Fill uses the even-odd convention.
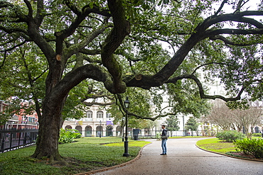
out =
[[[151,143],[147,144],[147,145],[150,145]],[[144,147],[146,147],[147,145],[144,145]],[[141,147],[141,149],[139,150],[139,153],[138,155],[132,159],[132,160],[129,160],[128,162],[124,162],[122,164],[117,164],[115,166],[110,166],[110,167],[107,167],[107,168],[104,168],[104,169],[96,169],[94,171],[88,171],[88,172],[85,172],[85,173],[80,173],[80,174],[75,174],[75,175],[89,175],[89,174],[95,174],[95,173],[100,173],[102,171],[108,171],[108,170],[111,170],[111,169],[116,169],[116,168],[119,168],[119,167],[122,167],[122,166],[125,166],[127,164],[132,164],[132,162],[136,161],[137,159],[139,159],[141,157],[141,151],[142,149],[144,149],[144,147]]]

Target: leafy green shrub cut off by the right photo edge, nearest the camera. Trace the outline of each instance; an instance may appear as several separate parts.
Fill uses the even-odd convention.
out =
[[[233,142],[237,151],[244,152],[245,154],[252,154],[256,158],[263,158],[263,140],[245,138],[243,140],[236,140]]]

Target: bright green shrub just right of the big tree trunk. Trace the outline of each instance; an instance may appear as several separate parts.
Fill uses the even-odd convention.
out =
[[[60,128],[60,138],[58,142],[60,144],[73,142],[75,138],[80,138],[81,134],[78,130],[71,130]]]

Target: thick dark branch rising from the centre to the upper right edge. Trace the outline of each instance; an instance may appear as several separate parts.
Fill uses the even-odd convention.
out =
[[[176,54],[168,61],[168,63],[155,75],[143,75],[141,74],[140,79],[136,77],[127,76],[124,81],[127,86],[138,86],[144,89],[150,89],[152,86],[160,86],[166,82],[169,77],[173,75],[174,72],[181,65],[185,59],[188,52],[200,41],[205,38],[213,37],[220,34],[239,34],[239,35],[250,35],[250,34],[263,34],[263,24],[255,21],[251,18],[243,18],[242,16],[262,16],[263,11],[243,11],[235,14],[223,14],[219,16],[210,16],[203,23],[200,23],[195,28],[195,33],[190,35],[190,38],[181,45]],[[223,21],[239,21],[243,23],[251,23],[254,25],[255,29],[252,30],[242,30],[242,29],[218,29],[218,30],[207,30],[210,26],[215,23],[220,23]]]

